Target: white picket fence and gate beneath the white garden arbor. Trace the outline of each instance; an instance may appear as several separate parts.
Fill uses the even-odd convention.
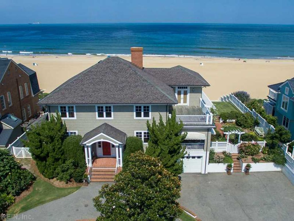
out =
[[[252,143],[255,143],[256,141],[252,141]],[[241,141],[238,144],[231,144],[229,142],[211,142],[210,149],[213,149],[215,152],[223,152],[227,151],[229,153],[235,154],[239,152],[239,145],[242,143],[248,143],[247,141]],[[260,146],[260,151],[261,149],[265,146],[266,142],[265,141],[257,141],[256,143],[259,144]]]

